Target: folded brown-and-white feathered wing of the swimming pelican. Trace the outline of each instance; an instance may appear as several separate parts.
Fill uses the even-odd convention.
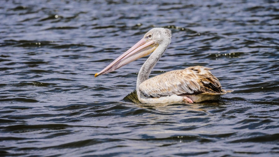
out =
[[[139,85],[139,92],[146,97],[158,98],[168,95],[190,95],[200,93],[224,93],[219,80],[201,66],[174,70],[154,76]]]

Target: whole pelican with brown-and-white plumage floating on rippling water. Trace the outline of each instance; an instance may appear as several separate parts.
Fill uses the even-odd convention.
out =
[[[170,40],[169,29],[153,28],[129,50],[96,73],[95,77],[113,72],[152,53],[138,73],[136,92],[141,103],[198,103],[215,100],[220,95],[232,92],[222,89],[219,80],[209,71],[212,68],[202,66],[174,70],[148,79],[151,70],[170,44]]]

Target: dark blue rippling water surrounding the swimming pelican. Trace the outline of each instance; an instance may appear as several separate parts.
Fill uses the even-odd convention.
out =
[[[1,156],[278,156],[278,1],[1,4]],[[139,104],[146,58],[94,78],[153,27],[173,37],[151,76],[201,65],[234,92]]]

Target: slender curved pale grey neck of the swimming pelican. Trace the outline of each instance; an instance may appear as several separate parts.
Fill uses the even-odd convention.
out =
[[[158,60],[162,57],[165,52],[168,44],[159,45],[156,50],[148,57],[148,59],[144,62],[142,67],[139,70],[138,78],[137,78],[137,88],[139,91],[139,85],[149,78],[150,72],[158,62]]]

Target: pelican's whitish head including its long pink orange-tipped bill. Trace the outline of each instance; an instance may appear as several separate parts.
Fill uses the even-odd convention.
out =
[[[165,51],[167,46],[170,44],[171,31],[167,28],[153,28],[148,31],[144,37],[138,41],[129,50],[115,59],[102,71],[95,74],[95,77],[103,75],[109,72],[113,72],[116,69],[131,63],[132,61],[149,55],[155,51],[158,46],[161,50]],[[163,53],[163,52],[162,52]]]

